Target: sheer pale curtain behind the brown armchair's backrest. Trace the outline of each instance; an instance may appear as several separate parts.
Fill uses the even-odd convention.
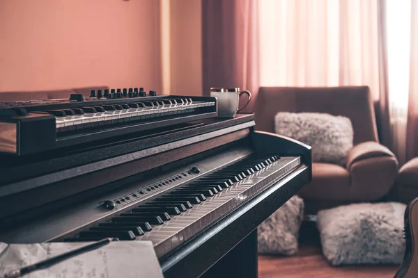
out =
[[[259,4],[261,85],[369,85],[378,98],[377,0]]]

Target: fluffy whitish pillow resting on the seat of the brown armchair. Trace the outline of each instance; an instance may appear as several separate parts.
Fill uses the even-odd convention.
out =
[[[279,112],[276,133],[312,147],[312,161],[345,165],[353,148],[353,126],[348,117],[325,113]]]

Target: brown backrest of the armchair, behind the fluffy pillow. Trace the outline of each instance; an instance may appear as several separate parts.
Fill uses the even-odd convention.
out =
[[[261,87],[256,95],[256,129],[274,132],[278,112],[316,112],[350,118],[354,145],[377,141],[376,117],[369,87]]]

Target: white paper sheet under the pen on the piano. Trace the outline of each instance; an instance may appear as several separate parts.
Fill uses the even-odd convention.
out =
[[[52,256],[90,243],[0,243],[0,277],[10,270],[22,268]],[[162,271],[150,241],[116,241],[96,250],[80,254],[36,270],[25,278],[162,278]]]

